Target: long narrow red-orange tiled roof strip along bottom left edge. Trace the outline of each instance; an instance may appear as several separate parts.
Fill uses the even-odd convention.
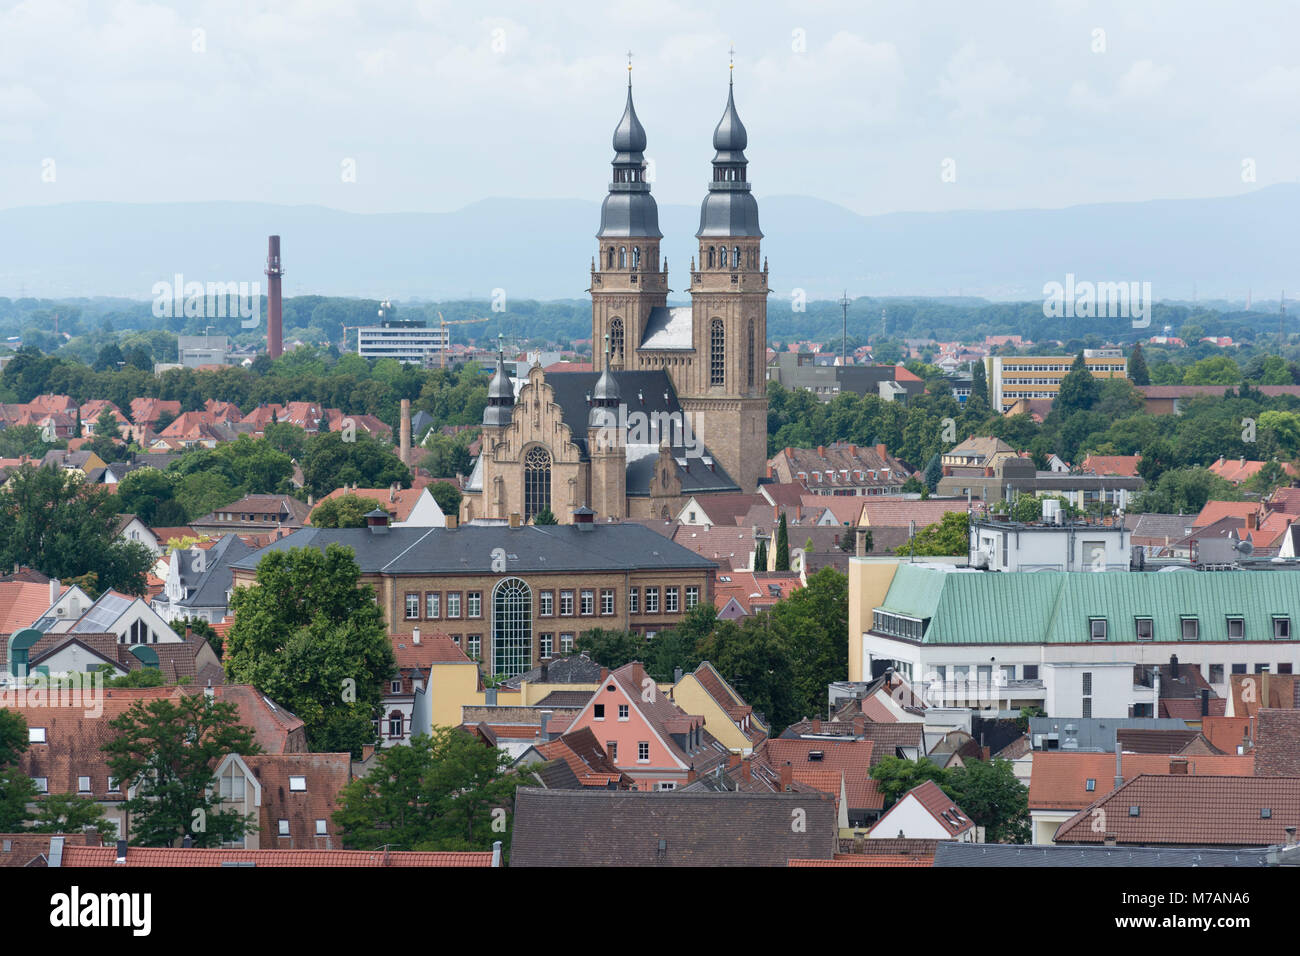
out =
[[[131,847],[117,862],[116,847],[64,847],[64,866],[491,866],[491,852],[411,852],[382,849],[200,849]]]

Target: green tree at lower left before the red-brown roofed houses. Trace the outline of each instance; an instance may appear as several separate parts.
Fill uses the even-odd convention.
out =
[[[220,847],[257,829],[254,814],[222,809],[212,786],[222,758],[261,752],[234,704],[204,693],[140,700],[108,726],[117,732],[103,747],[108,769],[135,791],[122,804],[134,845],[174,847],[188,835],[196,847]]]

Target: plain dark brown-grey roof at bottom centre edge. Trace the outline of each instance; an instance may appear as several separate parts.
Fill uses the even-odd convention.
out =
[[[802,832],[790,826],[802,810]],[[829,860],[827,793],[515,791],[511,866],[786,866]],[[660,849],[660,843],[663,848]]]

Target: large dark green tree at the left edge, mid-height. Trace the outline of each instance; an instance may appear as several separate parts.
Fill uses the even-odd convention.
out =
[[[94,574],[103,589],[143,594],[153,555],[117,537],[116,501],[62,468],[30,464],[0,492],[0,567],[27,564],[68,580]]]

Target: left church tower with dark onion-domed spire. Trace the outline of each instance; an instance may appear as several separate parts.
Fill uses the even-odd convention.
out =
[[[614,181],[601,207],[601,232],[592,261],[593,345],[608,337],[608,355],[593,349],[595,371],[640,368],[637,346],[650,310],[667,303],[668,265],[659,261],[659,208],[646,182],[646,131],[628,104],[614,130]]]

